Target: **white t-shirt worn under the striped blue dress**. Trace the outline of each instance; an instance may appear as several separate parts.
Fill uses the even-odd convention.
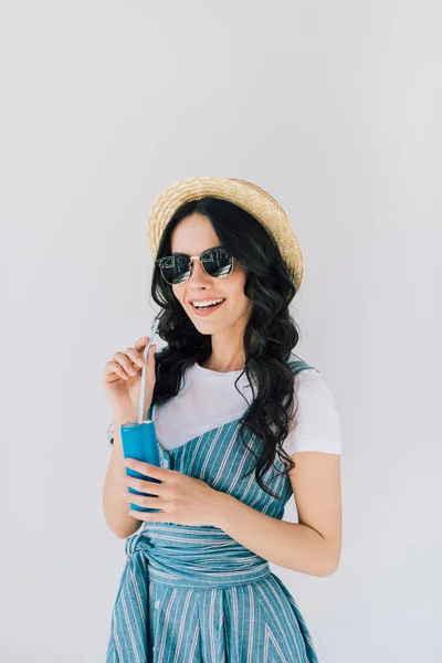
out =
[[[154,404],[151,419],[161,446],[177,449],[201,433],[242,417],[253,392],[245,372],[236,387],[246,400],[238,392],[234,381],[241,372],[218,372],[197,362],[189,367],[177,396],[165,403]],[[283,442],[284,451],[288,455],[296,451],[340,454],[339,414],[323,376],[308,368],[296,376],[295,389],[296,383],[297,423]]]

